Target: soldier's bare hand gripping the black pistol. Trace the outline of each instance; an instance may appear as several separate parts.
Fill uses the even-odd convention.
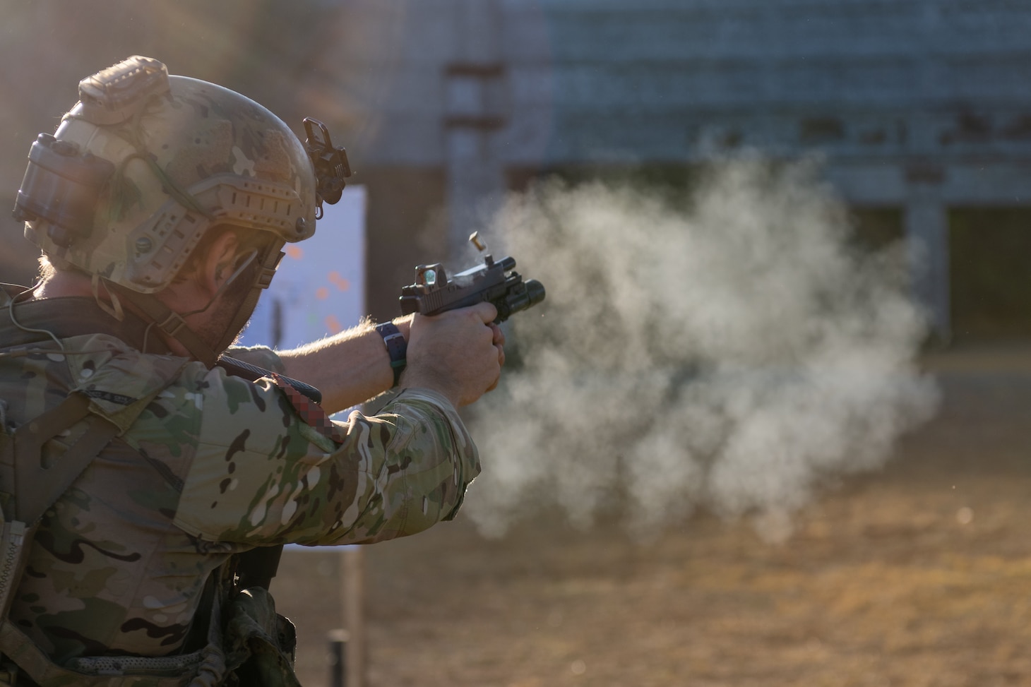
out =
[[[494,389],[504,363],[504,334],[493,324],[491,303],[417,315],[408,334],[402,387],[438,391],[456,406],[468,405]]]

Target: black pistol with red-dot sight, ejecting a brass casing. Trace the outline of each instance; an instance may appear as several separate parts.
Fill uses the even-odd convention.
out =
[[[469,237],[476,248],[485,250],[477,233]],[[512,313],[525,310],[544,300],[544,285],[537,280],[523,281],[516,271],[516,259],[500,260],[487,254],[484,264],[470,267],[453,276],[442,264],[415,267],[415,283],[401,289],[401,314],[438,315],[484,301],[498,308],[495,324],[507,320]]]

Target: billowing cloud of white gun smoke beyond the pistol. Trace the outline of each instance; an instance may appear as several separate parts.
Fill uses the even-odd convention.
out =
[[[934,413],[902,249],[858,250],[814,165],[714,163],[685,196],[554,184],[501,214],[547,297],[510,321],[524,366],[476,414],[485,533],[620,504],[642,536],[703,506],[783,538],[822,484]]]

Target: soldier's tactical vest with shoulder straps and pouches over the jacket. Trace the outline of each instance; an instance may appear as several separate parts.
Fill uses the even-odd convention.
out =
[[[5,348],[52,340],[51,330],[60,330],[57,335],[62,338],[105,333],[130,343],[144,340],[142,322],[129,316],[117,322],[90,298],[14,304],[16,324],[10,316],[12,302],[0,308],[0,341]],[[167,384],[173,381],[169,379]],[[0,399],[0,415],[3,410]],[[47,452],[53,464],[43,465],[43,446],[59,435],[67,435],[69,430],[78,439],[57,460],[54,452]],[[43,514],[118,433],[113,423],[91,413],[90,398],[79,393],[70,394],[11,432],[6,423],[0,422],[0,686],[299,687],[293,672],[293,625],[275,613],[267,589],[240,588],[240,580],[246,580],[247,575],[238,575],[239,557],[219,568],[217,579],[208,581],[210,593],[197,613],[199,618],[209,616],[206,644],[189,654],[79,657],[58,665],[10,621],[12,594]],[[258,577],[264,577],[267,587],[268,570]]]

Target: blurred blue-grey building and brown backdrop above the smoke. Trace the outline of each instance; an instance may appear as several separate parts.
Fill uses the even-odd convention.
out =
[[[918,238],[951,337],[1028,333],[1031,9],[1003,0],[0,2],[0,189],[132,54],[347,148],[368,193],[369,309],[545,173],[683,185],[740,149],[819,152],[874,244]],[[31,255],[4,224],[2,265]],[[28,276],[21,276],[27,280]]]

